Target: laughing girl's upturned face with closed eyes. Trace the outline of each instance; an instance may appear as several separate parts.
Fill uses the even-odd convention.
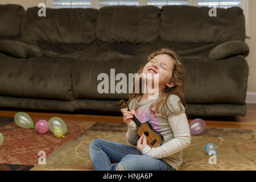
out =
[[[154,74],[158,73],[159,78],[159,89],[162,89],[167,85],[168,87],[174,86],[174,82],[171,82],[172,78],[172,70],[174,67],[174,59],[169,55],[162,54],[157,55],[144,66],[142,69],[142,73],[144,74],[152,74],[152,78],[154,78]]]

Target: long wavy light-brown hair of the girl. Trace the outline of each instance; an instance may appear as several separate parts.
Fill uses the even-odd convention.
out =
[[[175,94],[176,96],[179,96],[180,100],[178,102],[178,105],[180,107],[180,110],[178,111],[174,111],[174,110],[170,110],[171,113],[173,114],[179,114],[183,111],[183,108],[181,107],[181,104],[183,104],[184,107],[186,107],[185,105],[185,68],[183,67],[183,64],[180,63],[178,56],[176,55],[176,53],[174,51],[172,51],[171,49],[168,48],[162,48],[159,49],[157,51],[152,52],[148,57],[147,57],[147,61],[146,63],[144,63],[142,65],[142,67],[139,69],[139,71],[137,72],[138,75],[141,75],[142,70],[144,68],[144,66],[148,63],[148,61],[150,61],[151,59],[153,59],[155,56],[157,55],[162,55],[162,54],[166,54],[168,56],[170,56],[173,60],[174,60],[174,67],[173,67],[173,71],[172,71],[172,77],[170,82],[174,82],[175,85],[172,86],[171,88],[169,88],[168,86],[166,86],[164,89],[162,89],[159,93],[158,99],[156,100],[155,104],[152,104],[150,106],[150,110],[152,113],[155,113],[154,110],[152,110],[152,107],[155,107],[156,111],[159,111],[162,114],[164,114],[164,110],[165,108],[168,108],[168,110],[170,110],[170,108],[167,105],[168,97],[170,96],[170,94]],[[170,73],[171,74],[171,73]],[[135,111],[138,109],[137,105],[136,105],[136,101],[137,98],[141,95],[143,95],[142,93],[142,78],[139,78],[140,84],[139,84],[139,93],[135,93],[135,82],[133,82],[133,92],[129,93],[129,100],[128,103],[130,104],[130,102],[133,100],[134,101],[134,106],[135,106]],[[171,103],[168,103],[172,108],[174,108]]]

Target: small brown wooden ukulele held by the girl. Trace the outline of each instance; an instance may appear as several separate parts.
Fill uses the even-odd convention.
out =
[[[125,100],[120,100],[119,105],[122,108],[126,108],[128,111],[130,111],[128,104]],[[141,123],[135,115],[133,115],[133,121],[138,126],[138,135],[141,137],[143,134],[147,137],[147,144],[151,148],[159,147],[163,142],[163,135],[158,133],[153,129],[153,127],[150,125],[150,123]]]

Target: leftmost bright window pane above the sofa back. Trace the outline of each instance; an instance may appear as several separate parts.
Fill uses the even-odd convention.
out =
[[[59,8],[90,8],[90,0],[53,0],[52,7]]]

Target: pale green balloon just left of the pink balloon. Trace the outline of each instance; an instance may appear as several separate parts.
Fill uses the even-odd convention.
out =
[[[23,129],[34,129],[34,122],[31,119],[30,115],[28,115],[27,113],[16,113],[14,116],[14,121],[16,125],[22,127]]]

